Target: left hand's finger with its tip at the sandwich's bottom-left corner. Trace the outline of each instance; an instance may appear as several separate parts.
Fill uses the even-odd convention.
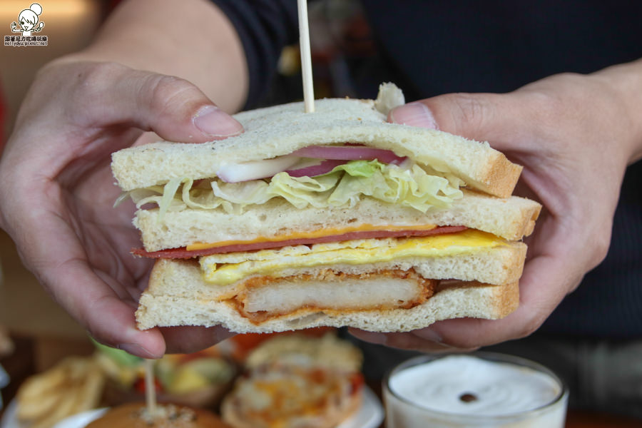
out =
[[[26,228],[34,225],[35,231],[12,234],[17,238],[24,264],[54,300],[98,342],[145,358],[164,354],[161,332],[136,328],[133,298],[125,288],[113,287],[107,275],[93,270],[70,225],[58,215],[36,208],[23,213],[20,224]],[[135,279],[131,273],[119,276],[128,275],[133,287]]]

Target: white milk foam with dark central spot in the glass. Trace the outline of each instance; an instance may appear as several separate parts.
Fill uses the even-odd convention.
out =
[[[452,355],[408,367],[389,379],[389,388],[398,397],[425,409],[477,416],[538,409],[554,402],[562,389],[549,374],[468,355]]]

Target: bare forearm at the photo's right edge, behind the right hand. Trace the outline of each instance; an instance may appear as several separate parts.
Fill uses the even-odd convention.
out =
[[[642,59],[605,68],[591,76],[613,89],[621,106],[621,126],[628,128],[630,138],[628,164],[642,159]]]

